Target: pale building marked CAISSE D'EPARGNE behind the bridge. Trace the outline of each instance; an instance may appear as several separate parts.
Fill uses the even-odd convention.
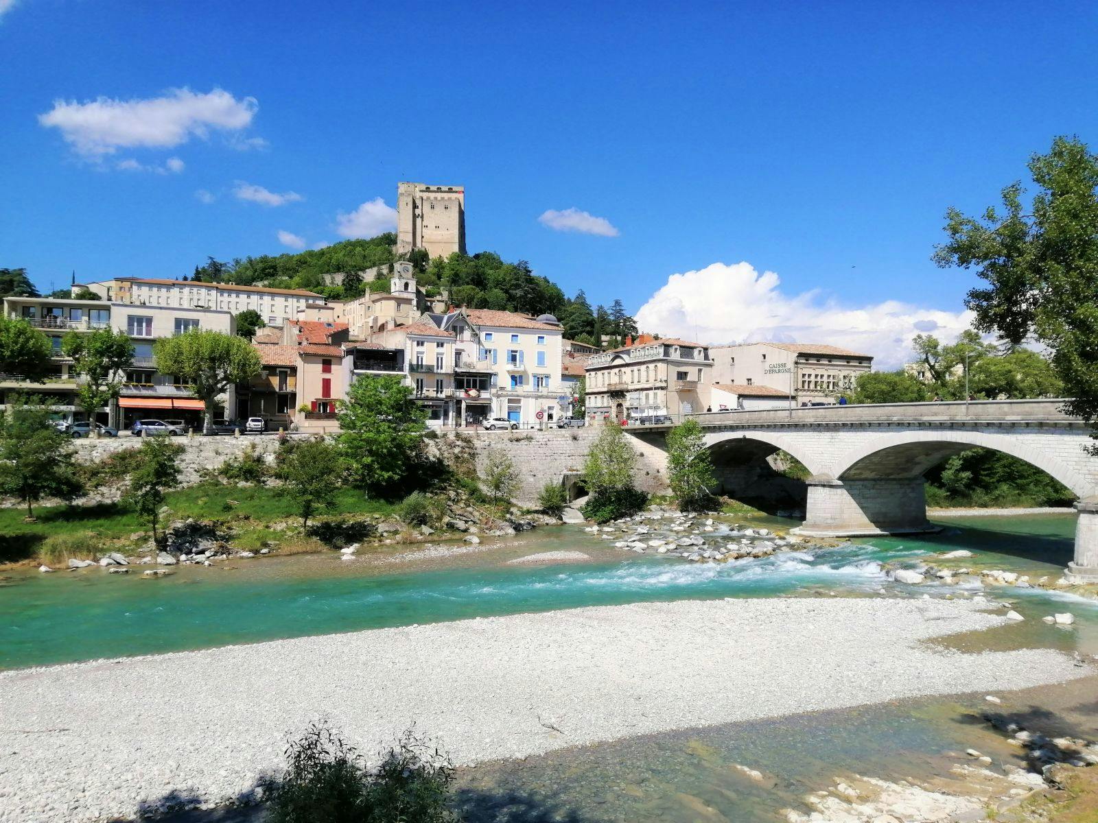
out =
[[[873,368],[872,354],[826,343],[758,342],[714,346],[713,382],[770,386],[800,406],[831,405]]]

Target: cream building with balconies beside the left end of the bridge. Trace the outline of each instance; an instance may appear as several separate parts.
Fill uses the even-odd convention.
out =
[[[710,382],[713,361],[703,343],[641,335],[636,342],[627,339],[619,349],[594,354],[585,369],[591,420],[677,418],[707,407],[699,386]]]

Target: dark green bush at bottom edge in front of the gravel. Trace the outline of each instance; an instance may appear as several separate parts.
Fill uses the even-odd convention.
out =
[[[265,787],[270,823],[456,823],[449,810],[453,767],[410,733],[380,766],[366,769],[356,749],[314,724],[285,752],[281,780]]]

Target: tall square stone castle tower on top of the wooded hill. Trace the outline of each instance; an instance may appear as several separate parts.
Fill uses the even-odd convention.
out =
[[[466,253],[466,192],[460,185],[396,185],[396,253]]]

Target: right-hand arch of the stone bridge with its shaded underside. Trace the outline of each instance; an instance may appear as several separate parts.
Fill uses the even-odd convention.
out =
[[[981,447],[1023,460],[1063,483],[1077,497],[1095,494],[1093,481],[1047,449],[1019,442],[1019,438],[964,429],[900,431],[882,435],[843,455],[834,466],[839,481],[918,480],[943,460]],[[1077,447],[1080,448],[1080,447]]]

